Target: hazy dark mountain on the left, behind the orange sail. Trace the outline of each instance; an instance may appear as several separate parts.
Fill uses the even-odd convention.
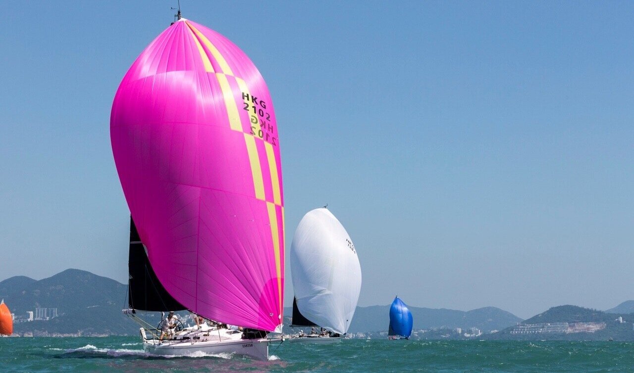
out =
[[[36,308],[57,308],[53,319],[15,322],[17,334],[135,334],[138,327],[121,313],[127,307],[126,289],[107,277],[68,269],[40,281],[6,279],[0,282],[0,298],[22,318]]]

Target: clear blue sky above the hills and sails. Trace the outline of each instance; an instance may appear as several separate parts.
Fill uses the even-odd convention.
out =
[[[359,305],[530,317],[634,299],[633,3],[181,3],[264,75],[287,248],[328,203]],[[127,281],[110,107],[175,4],[2,4],[0,279]]]

